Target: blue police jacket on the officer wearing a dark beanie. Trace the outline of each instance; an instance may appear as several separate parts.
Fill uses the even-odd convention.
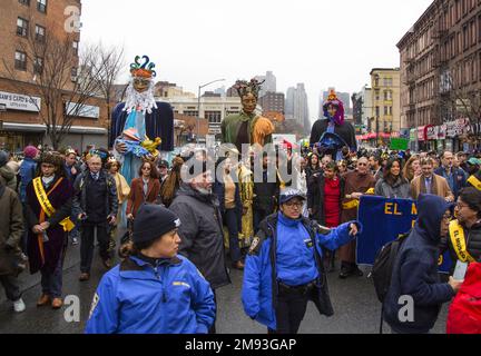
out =
[[[94,297],[86,334],[207,334],[216,306],[187,258],[157,266],[129,257],[108,271]]]

